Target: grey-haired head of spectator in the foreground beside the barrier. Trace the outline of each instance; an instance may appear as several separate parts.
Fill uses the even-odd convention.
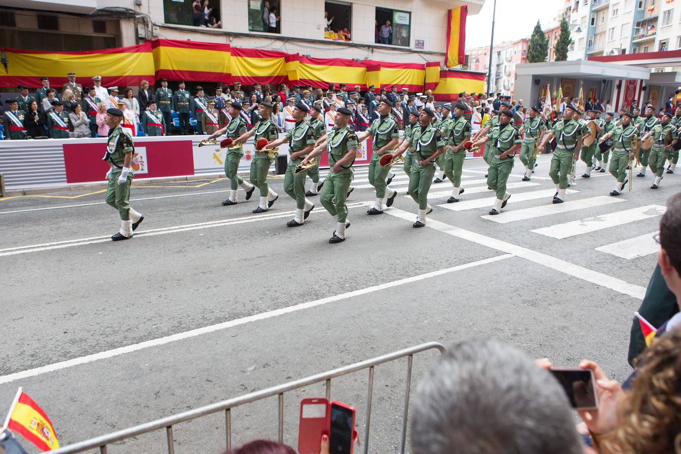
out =
[[[420,383],[412,454],[577,454],[565,391],[519,348],[472,339],[447,349]]]

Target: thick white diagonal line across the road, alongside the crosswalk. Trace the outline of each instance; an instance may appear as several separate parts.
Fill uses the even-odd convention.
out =
[[[385,212],[398,218],[407,219],[407,221],[413,222],[415,220],[414,214],[399,210],[398,208],[391,208]],[[574,263],[570,263],[556,257],[552,257],[551,255],[537,252],[536,250],[517,246],[516,244],[511,244],[502,240],[496,240],[496,238],[484,236],[481,233],[475,233],[473,231],[455,227],[454,225],[441,223],[439,221],[434,221],[432,219],[428,219],[426,227],[447,233],[447,235],[455,236],[456,238],[461,238],[462,240],[471,241],[507,254],[516,255],[522,259],[533,261],[539,265],[549,267],[552,270],[568,274],[569,276],[573,276],[575,278],[586,280],[586,282],[591,282],[592,284],[599,285],[601,287],[607,287],[608,289],[622,293],[623,295],[629,295],[637,299],[643,299],[643,297],[646,295],[645,287],[630,284],[624,280],[607,276],[607,274],[603,274],[601,272],[589,270],[588,268],[575,265]]]

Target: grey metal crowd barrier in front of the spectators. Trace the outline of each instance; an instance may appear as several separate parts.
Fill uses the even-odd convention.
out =
[[[411,388],[411,366],[413,355],[415,355],[416,353],[422,353],[424,351],[432,349],[436,349],[440,353],[443,353],[443,351],[445,351],[445,346],[443,346],[439,342],[427,342],[426,344],[420,344],[410,348],[405,348],[403,350],[398,350],[393,353],[387,353],[386,355],[381,355],[379,357],[375,357],[372,359],[366,359],[365,361],[350,364],[349,366],[344,366],[342,368],[329,370],[328,372],[322,372],[321,374],[308,376],[306,378],[300,378],[300,380],[294,380],[289,383],[284,383],[283,385],[277,385],[267,389],[262,389],[260,391],[254,391],[252,393],[241,395],[237,398],[223,400],[221,402],[216,402],[215,404],[210,404],[202,406],[200,408],[194,408],[193,410],[181,412],[178,413],[177,415],[157,419],[156,421],[150,421],[148,423],[136,425],[134,427],[129,427],[127,429],[118,430],[116,432],[112,432],[111,434],[91,438],[90,440],[84,440],[82,442],[69,444],[68,446],[61,447],[51,452],[54,454],[71,454],[82,453],[83,451],[86,451],[88,449],[99,448],[100,454],[107,454],[107,446],[109,444],[165,428],[166,442],[168,444],[168,454],[174,454],[174,441],[172,434],[172,428],[174,425],[178,423],[183,423],[185,421],[190,421],[191,419],[197,419],[202,416],[212,415],[212,413],[219,411],[225,412],[225,441],[227,442],[226,443],[227,450],[229,450],[232,449],[232,408],[243,404],[248,404],[250,402],[255,402],[257,400],[270,398],[274,395],[278,396],[279,400],[278,439],[279,442],[283,442],[285,392],[294,391],[296,389],[300,389],[302,387],[314,385],[315,383],[321,383],[324,381],[326,382],[326,398],[327,400],[331,401],[332,378],[337,378],[339,376],[347,375],[352,372],[358,372],[359,370],[368,369],[369,380],[368,390],[366,394],[366,423],[364,424],[364,454],[368,454],[369,429],[371,422],[371,398],[373,395],[374,386],[374,367],[382,363],[387,363],[390,361],[395,361],[396,359],[407,357],[407,384],[405,386],[405,407],[403,409],[402,432],[400,434],[400,454],[404,454],[405,443],[407,441],[407,416],[409,415],[409,392]]]

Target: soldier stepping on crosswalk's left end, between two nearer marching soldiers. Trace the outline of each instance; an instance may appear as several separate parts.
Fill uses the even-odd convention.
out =
[[[445,112],[444,109],[442,111]],[[461,187],[461,170],[464,167],[464,159],[466,159],[464,143],[471,140],[471,122],[466,120],[465,112],[466,105],[464,103],[454,104],[454,118],[446,123],[445,133],[443,134],[447,142],[443,153],[445,176],[452,182],[452,196],[447,199],[447,204],[454,204],[459,201],[459,194],[464,192]],[[442,131],[442,128],[438,129]]]

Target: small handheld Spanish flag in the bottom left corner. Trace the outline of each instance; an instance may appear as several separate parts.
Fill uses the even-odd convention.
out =
[[[16,397],[0,432],[5,427],[22,434],[41,451],[59,448],[59,440],[57,434],[54,434],[50,418],[21,388],[16,391]]]

